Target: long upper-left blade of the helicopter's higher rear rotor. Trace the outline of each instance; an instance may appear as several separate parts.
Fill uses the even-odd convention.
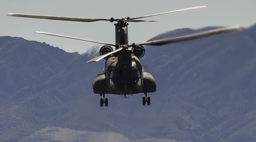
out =
[[[19,13],[7,13],[6,16],[50,19],[50,20],[64,20],[64,21],[79,21],[79,22],[94,22],[94,21],[100,21],[100,20],[104,20],[104,21],[109,20],[109,19],[99,19],[99,18],[62,17],[62,16],[48,16],[48,15],[34,15],[34,14],[19,14]]]

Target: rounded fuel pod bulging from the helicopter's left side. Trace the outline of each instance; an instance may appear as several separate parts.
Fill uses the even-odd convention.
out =
[[[108,94],[107,79],[105,74],[97,75],[94,78],[92,88],[95,94]]]

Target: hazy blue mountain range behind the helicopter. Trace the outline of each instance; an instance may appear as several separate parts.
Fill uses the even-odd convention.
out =
[[[150,40],[213,29],[176,29]],[[241,32],[145,46],[142,64],[156,80],[130,99],[107,94],[93,78],[100,47],[68,53],[21,37],[0,37],[0,142],[251,142],[256,140],[256,25]],[[150,41],[149,40],[149,41]],[[71,47],[70,47],[71,48]]]

